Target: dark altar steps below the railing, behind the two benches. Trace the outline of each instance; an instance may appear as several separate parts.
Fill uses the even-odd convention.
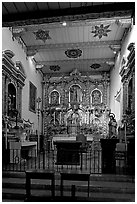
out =
[[[100,175],[90,177],[90,195],[87,198],[86,182],[65,182],[64,197],[60,197],[60,175],[55,175],[55,198],[54,201],[69,201],[71,185],[76,186],[77,201],[98,202],[134,202],[135,183],[131,177],[116,175]],[[3,173],[2,198],[3,202],[22,202],[25,200],[25,173]],[[52,201],[50,181],[34,180],[32,184],[33,199],[45,199]],[[63,200],[62,200],[63,199]]]

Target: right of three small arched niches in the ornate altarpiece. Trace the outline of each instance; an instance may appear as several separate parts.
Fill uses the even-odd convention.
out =
[[[91,103],[93,105],[96,105],[96,104],[100,104],[102,103],[102,92],[95,88],[94,90],[91,91]]]

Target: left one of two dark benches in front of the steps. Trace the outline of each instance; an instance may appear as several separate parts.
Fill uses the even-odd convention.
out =
[[[55,177],[54,172],[46,170],[27,170],[26,171],[26,201],[31,198],[31,179],[51,180],[52,197],[55,196]]]

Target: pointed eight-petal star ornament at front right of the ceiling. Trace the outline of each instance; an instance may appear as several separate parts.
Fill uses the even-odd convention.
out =
[[[109,30],[110,25],[106,25],[104,26],[103,24],[101,24],[100,26],[95,26],[95,30],[91,31],[91,33],[94,33],[95,35],[93,37],[99,37],[102,38],[103,36],[108,36],[108,33],[111,31]]]

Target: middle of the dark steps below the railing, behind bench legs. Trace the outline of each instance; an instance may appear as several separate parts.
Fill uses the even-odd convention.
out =
[[[10,180],[10,179],[9,179]],[[25,182],[21,182],[18,180],[18,182],[16,182],[15,180],[12,182],[10,181],[4,181],[2,183],[2,188],[17,188],[17,189],[25,189]],[[16,179],[17,180],[17,179]],[[75,185],[77,187],[77,189],[79,189],[79,191],[86,191],[87,190],[87,185],[80,183],[80,182],[64,182],[64,189],[69,189],[71,188],[71,185]],[[50,189],[50,181],[48,183],[45,182],[44,183],[32,183],[31,185],[32,189]],[[56,182],[55,184],[55,190],[59,190],[60,188],[60,184],[58,182]],[[134,194],[135,193],[135,187],[134,185],[131,185],[130,183],[127,184],[126,186],[123,185],[114,185],[109,183],[109,182],[93,182],[92,184],[90,184],[90,191],[92,192],[113,192],[113,193],[131,193]]]

